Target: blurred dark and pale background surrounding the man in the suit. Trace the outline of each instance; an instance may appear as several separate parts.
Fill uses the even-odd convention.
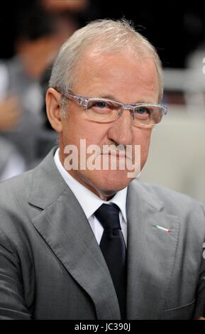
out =
[[[88,21],[122,18],[155,45],[169,113],[153,131],[140,178],[205,202],[205,14],[200,1],[3,1],[0,11],[0,180],[56,144],[45,91],[60,45]]]

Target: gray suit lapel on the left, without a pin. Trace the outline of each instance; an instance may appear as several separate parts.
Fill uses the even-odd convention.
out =
[[[33,175],[35,187],[29,203],[44,209],[33,217],[33,225],[70,275],[92,298],[97,318],[120,319],[111,276],[87,217],[70,188],[62,182],[53,156],[47,160],[43,168],[35,169]],[[47,196],[42,193],[45,189]]]

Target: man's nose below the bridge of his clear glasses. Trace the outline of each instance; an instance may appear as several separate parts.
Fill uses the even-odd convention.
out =
[[[131,110],[124,108],[121,111],[121,116],[116,119],[108,131],[109,139],[121,145],[133,144],[133,125]]]

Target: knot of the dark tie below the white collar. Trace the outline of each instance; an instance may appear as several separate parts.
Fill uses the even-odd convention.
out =
[[[119,220],[119,208],[115,204],[102,204],[94,215],[101,223],[104,230],[121,230],[121,224]]]

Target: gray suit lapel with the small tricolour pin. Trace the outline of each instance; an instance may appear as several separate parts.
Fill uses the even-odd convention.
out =
[[[127,218],[128,319],[157,319],[170,286],[179,221],[175,216],[165,215],[162,203],[138,181],[128,188]]]

